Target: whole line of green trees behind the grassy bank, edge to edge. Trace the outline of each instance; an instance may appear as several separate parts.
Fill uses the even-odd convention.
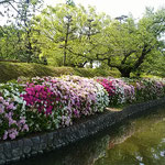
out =
[[[97,67],[118,69],[123,77],[164,73],[164,8],[146,9],[135,20],[131,15],[111,19],[72,0],[41,12],[40,0],[19,2],[11,6],[16,11],[15,21],[0,26],[1,59],[73,67],[97,63]]]

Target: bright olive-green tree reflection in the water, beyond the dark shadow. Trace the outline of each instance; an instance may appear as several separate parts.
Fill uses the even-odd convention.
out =
[[[112,150],[107,157],[96,162],[95,165],[164,165],[165,164],[165,112],[160,111],[135,122],[132,122],[134,132],[128,139],[123,135],[114,139]],[[143,125],[143,127],[142,127]],[[120,141],[121,140],[121,141]],[[125,140],[125,142],[122,142]],[[121,144],[119,144],[119,143]]]

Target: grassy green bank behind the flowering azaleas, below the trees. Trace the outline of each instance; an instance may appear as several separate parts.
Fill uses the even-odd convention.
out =
[[[18,79],[18,77],[20,76],[35,77],[35,76],[62,76],[62,75],[78,75],[82,77],[95,77],[95,76],[120,77],[120,74],[118,72],[112,70],[52,67],[41,64],[0,62],[0,82],[6,82],[11,79]]]

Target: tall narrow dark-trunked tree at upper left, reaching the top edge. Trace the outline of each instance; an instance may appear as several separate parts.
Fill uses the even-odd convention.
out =
[[[24,57],[28,63],[35,61],[35,57],[37,58],[35,56],[37,48],[35,46],[33,47],[33,42],[35,43],[35,41],[32,38],[34,31],[32,18],[35,16],[41,6],[41,0],[20,0],[18,6],[16,24],[24,32],[22,35],[22,44],[24,44]]]

